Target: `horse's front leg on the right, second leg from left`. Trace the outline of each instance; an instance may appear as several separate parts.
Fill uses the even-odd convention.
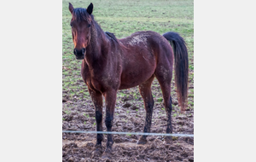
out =
[[[114,113],[114,106],[115,106],[115,101],[116,101],[116,93],[117,90],[108,90],[107,92],[104,93],[105,95],[105,100],[106,100],[106,119],[105,119],[105,124],[107,127],[107,131],[111,131],[112,125],[113,125],[113,113]],[[108,134],[108,139],[107,139],[107,148],[105,153],[103,154],[102,158],[106,158],[110,156],[109,153],[112,151],[112,146],[113,146],[113,139],[112,135]]]

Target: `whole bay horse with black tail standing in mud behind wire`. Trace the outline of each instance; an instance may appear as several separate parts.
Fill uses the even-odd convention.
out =
[[[157,32],[143,31],[117,39],[113,33],[103,32],[96,23],[91,14],[92,3],[87,9],[74,9],[71,3],[68,8],[72,14],[73,54],[77,60],[82,60],[81,75],[94,103],[96,130],[102,131],[102,95],[106,101],[105,124],[107,130],[111,131],[117,91],[138,85],[146,110],[143,132],[150,132],[154,107],[151,84],[155,77],[160,83],[166,108],[166,133],[172,133],[171,81],[174,59],[178,103],[182,112],[187,106],[189,59],[183,38],[176,32],[166,32],[161,36]],[[107,148],[102,157],[111,153],[113,146],[112,135],[107,136]],[[141,136],[137,144],[145,144],[146,138]],[[103,135],[97,134],[96,151],[102,148],[102,140]],[[171,136],[166,137],[165,142],[172,143]]]

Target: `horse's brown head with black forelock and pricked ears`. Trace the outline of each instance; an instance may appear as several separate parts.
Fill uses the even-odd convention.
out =
[[[74,43],[73,54],[76,55],[76,59],[83,60],[86,47],[90,42],[90,25],[92,22],[90,14],[92,13],[93,4],[90,3],[87,9],[73,9],[73,5],[69,3],[68,8],[72,14],[70,26],[72,27]]]

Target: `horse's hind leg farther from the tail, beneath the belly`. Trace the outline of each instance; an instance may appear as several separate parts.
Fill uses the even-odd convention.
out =
[[[151,92],[151,84],[154,80],[154,75],[148,79],[143,84],[139,85],[139,90],[141,95],[143,96],[144,106],[146,110],[146,119],[144,125],[144,133],[150,132],[151,121],[152,121],[152,113],[154,107],[154,99]],[[147,136],[141,136],[137,144],[146,144],[147,143]]]

